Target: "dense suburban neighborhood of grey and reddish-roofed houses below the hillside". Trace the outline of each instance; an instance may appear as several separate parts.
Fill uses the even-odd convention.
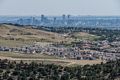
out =
[[[35,42],[33,45],[26,45],[22,47],[0,46],[0,51],[21,54],[46,54],[50,56],[57,56],[63,59],[101,59],[109,61],[120,59],[120,47],[118,47],[119,44],[120,42],[109,43],[108,41],[81,41],[75,44],[74,47],[65,47],[64,45],[56,46],[52,43],[43,46],[40,42]]]

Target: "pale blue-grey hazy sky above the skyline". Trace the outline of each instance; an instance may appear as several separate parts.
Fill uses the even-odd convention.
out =
[[[0,15],[120,15],[120,0],[0,0]]]

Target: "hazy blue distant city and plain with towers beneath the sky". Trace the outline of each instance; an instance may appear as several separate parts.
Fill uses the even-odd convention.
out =
[[[0,23],[47,27],[106,27],[119,28],[120,16],[1,16]]]

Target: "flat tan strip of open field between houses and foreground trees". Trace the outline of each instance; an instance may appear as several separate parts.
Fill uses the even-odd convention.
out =
[[[93,65],[100,64],[101,60],[71,60],[71,59],[62,59],[59,57],[42,55],[42,54],[19,54],[19,53],[3,53],[0,52],[0,59],[8,59],[10,61],[20,62],[38,62],[44,64],[57,64],[62,66],[77,66],[77,65]]]

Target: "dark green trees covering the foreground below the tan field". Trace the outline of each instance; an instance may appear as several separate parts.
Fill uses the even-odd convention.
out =
[[[114,80],[119,66],[120,60],[77,67],[0,60],[0,80]]]

